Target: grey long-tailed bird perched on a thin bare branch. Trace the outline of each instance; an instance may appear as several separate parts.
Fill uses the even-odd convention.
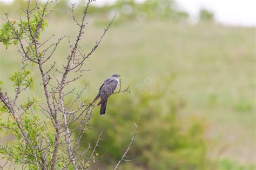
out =
[[[118,74],[112,74],[110,78],[107,78],[103,85],[99,88],[99,93],[93,101],[96,101],[100,97],[98,105],[100,106],[100,115],[104,115],[106,112],[107,99],[117,89],[120,77]]]

